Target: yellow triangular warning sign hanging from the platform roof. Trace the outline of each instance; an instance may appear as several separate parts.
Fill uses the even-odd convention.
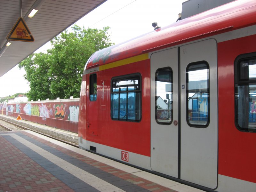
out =
[[[21,17],[17,20],[16,24],[13,26],[12,30],[6,38],[10,41],[34,41],[34,37],[30,33],[25,21]]]

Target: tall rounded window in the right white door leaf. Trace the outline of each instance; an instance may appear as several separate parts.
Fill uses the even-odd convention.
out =
[[[210,123],[209,64],[190,63],[186,69],[187,123],[190,127],[205,128]]]

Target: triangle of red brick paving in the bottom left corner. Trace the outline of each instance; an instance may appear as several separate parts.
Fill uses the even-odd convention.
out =
[[[73,191],[1,136],[0,146],[0,192]]]

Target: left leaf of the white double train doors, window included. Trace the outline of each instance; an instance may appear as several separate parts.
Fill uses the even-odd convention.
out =
[[[151,168],[178,177],[178,48],[151,55]]]

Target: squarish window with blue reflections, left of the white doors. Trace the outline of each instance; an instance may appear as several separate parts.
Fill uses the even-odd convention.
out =
[[[120,121],[140,121],[141,76],[139,74],[112,79],[111,118]]]

